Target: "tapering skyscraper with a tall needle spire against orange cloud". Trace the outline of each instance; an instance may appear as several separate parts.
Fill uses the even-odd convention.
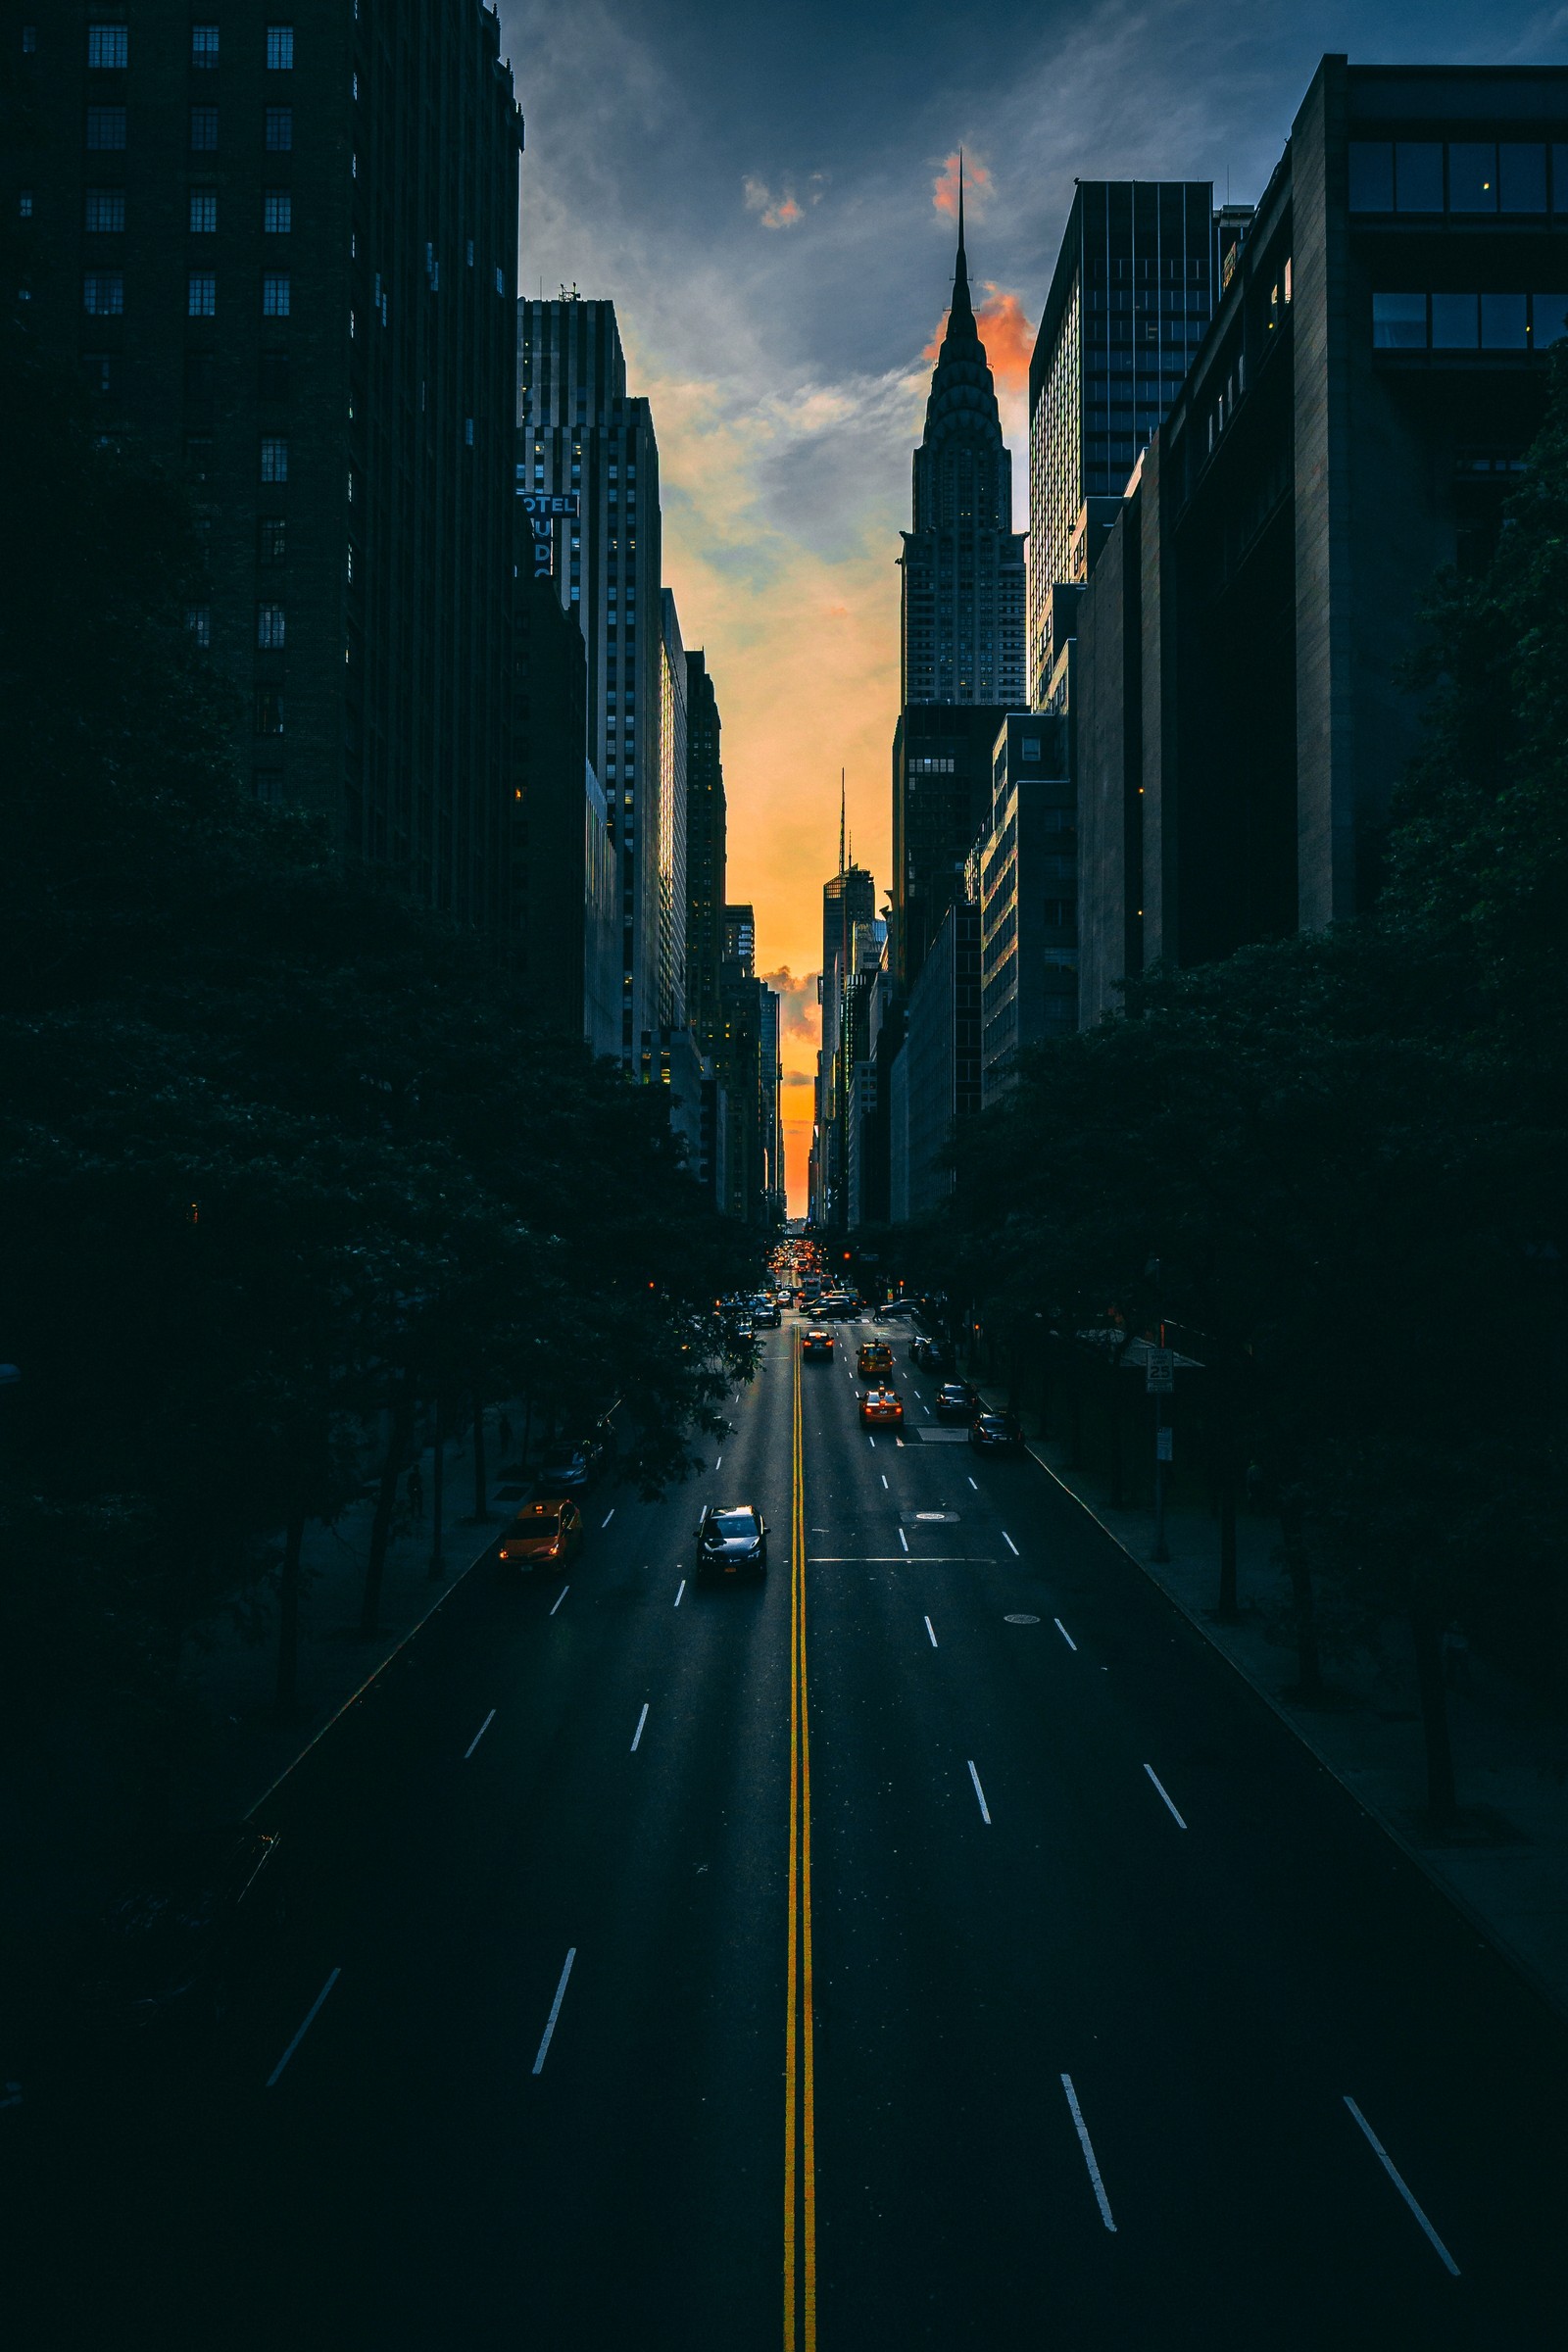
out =
[[[914,452],[912,520],[903,534],[900,701],[1023,708],[1025,555],[1013,532],[1013,459],[969,299],[961,193],[952,310]]]

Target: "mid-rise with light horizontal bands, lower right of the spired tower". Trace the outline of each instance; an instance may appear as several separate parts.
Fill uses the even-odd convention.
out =
[[[1009,717],[992,781],[992,816],[971,866],[980,908],[980,1108],[1013,1084],[1023,1047],[1077,1028],[1077,811],[1065,717]]]

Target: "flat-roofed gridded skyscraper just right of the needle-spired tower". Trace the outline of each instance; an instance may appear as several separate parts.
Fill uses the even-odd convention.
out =
[[[1215,226],[1206,179],[1086,179],[1072,198],[1030,360],[1030,673],[1013,708],[1046,708],[1051,590],[1088,579],[1093,539],[1204,341]]]

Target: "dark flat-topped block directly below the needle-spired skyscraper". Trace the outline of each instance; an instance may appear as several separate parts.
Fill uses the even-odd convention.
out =
[[[910,703],[893,731],[893,981],[907,995],[992,804],[992,748],[1006,710]]]

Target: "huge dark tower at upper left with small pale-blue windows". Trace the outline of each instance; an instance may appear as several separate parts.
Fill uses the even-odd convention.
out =
[[[261,800],[508,920],[517,153],[480,0],[5,7],[7,268],[179,473]],[[24,38],[26,19],[26,38]]]

